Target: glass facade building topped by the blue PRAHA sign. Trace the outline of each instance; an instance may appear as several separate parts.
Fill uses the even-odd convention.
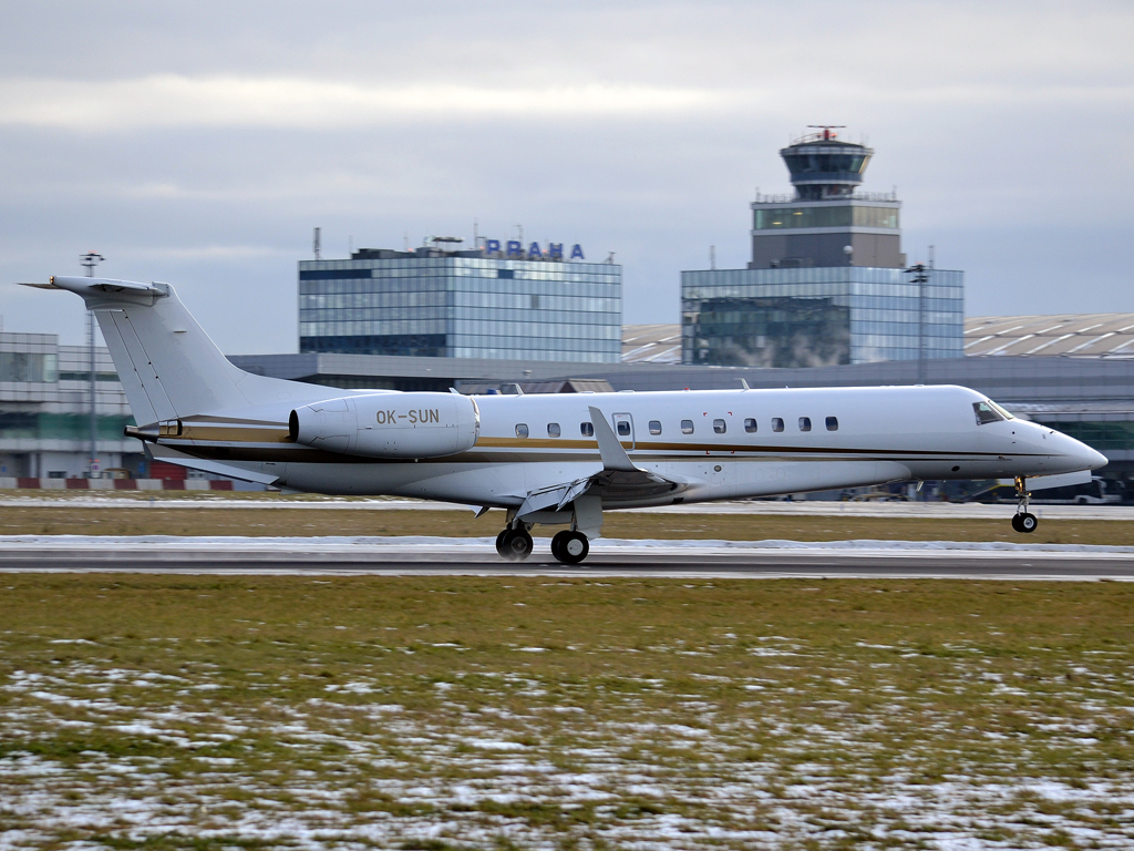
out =
[[[299,351],[619,361],[620,266],[479,254],[302,261]]]

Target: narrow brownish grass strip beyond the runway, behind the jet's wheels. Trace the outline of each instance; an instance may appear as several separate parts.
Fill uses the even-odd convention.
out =
[[[1107,520],[1043,520],[1032,534],[1014,532],[1002,519],[839,517],[753,514],[640,514],[607,512],[607,538],[827,541],[954,540],[1017,544],[1134,546],[1134,523]],[[471,511],[25,507],[0,506],[0,534],[176,536],[404,536],[493,537],[503,512],[479,520]],[[550,534],[549,526],[542,528]],[[553,531],[553,530],[552,530]]]

